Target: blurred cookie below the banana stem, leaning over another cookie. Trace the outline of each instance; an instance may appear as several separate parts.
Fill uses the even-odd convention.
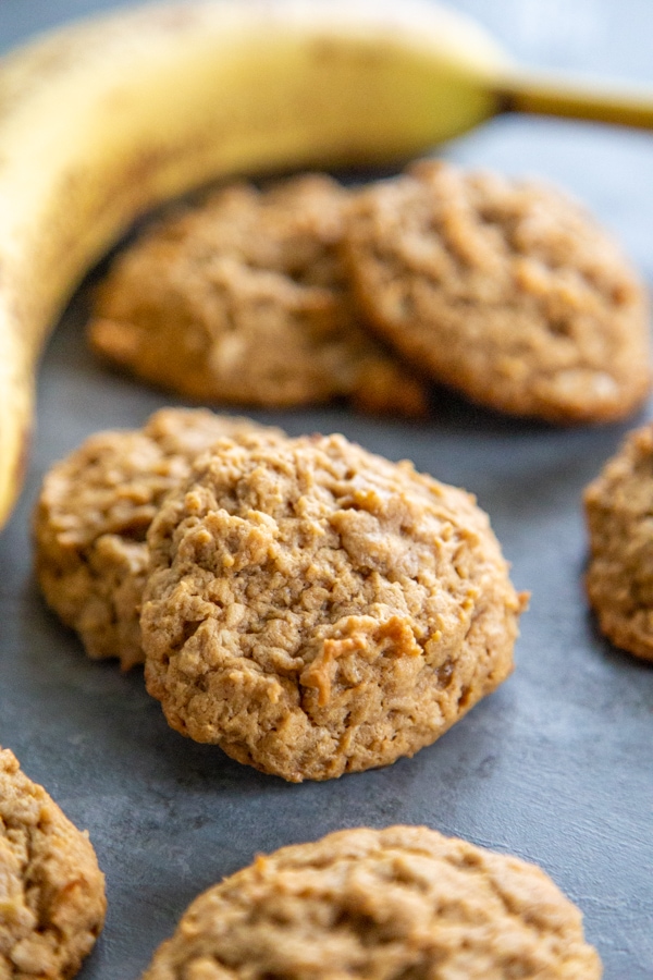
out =
[[[552,187],[422,161],[353,204],[346,261],[370,323],[482,405],[607,421],[650,388],[644,289]]]

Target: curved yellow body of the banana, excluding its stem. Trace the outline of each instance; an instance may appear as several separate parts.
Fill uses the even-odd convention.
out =
[[[190,0],[0,62],[0,526],[48,333],[133,220],[209,180],[408,157],[496,111],[471,22],[383,0]]]

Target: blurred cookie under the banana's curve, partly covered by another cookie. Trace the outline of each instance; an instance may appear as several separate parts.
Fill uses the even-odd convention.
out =
[[[347,192],[322,175],[235,184],[119,258],[95,350],[202,402],[288,407],[350,397],[423,415],[423,384],[357,322],[338,246]]]

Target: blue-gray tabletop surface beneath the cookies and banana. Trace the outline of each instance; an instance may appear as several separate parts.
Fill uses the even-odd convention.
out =
[[[399,2],[399,0],[397,0]],[[0,51],[116,5],[0,0]],[[458,0],[519,60],[653,86],[650,0]],[[540,174],[583,199],[653,283],[653,134],[494,120],[444,151],[465,166]],[[653,978],[653,669],[611,648],[583,599],[580,494],[628,424],[555,430],[443,397],[424,422],[345,409],[262,414],[288,431],[344,431],[475,491],[532,590],[514,676],[412,760],[291,786],[170,731],[141,672],[91,663],[41,604],[29,511],[53,460],[89,432],[140,425],[171,399],[86,353],[88,283],[47,352],[27,487],[0,536],[0,744],[88,828],[109,915],[83,980],[132,980],[188,902],[255,853],[343,826],[427,823],[540,863],[582,908],[606,980]],[[653,571],[652,571],[653,574]]]

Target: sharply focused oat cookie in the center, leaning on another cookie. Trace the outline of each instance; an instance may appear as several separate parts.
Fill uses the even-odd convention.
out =
[[[513,669],[523,597],[486,515],[343,436],[223,441],[148,546],[149,693],[285,780],[411,756]]]

